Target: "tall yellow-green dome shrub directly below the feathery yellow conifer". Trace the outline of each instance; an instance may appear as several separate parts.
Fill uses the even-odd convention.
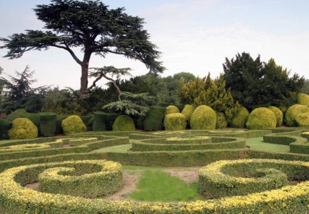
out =
[[[192,129],[216,129],[216,111],[207,105],[197,107],[190,120]]]

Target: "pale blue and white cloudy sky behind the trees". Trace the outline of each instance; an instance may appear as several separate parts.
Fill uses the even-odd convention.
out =
[[[275,58],[277,65],[309,79],[309,1],[307,0],[102,0],[110,8],[126,8],[133,16],[144,18],[150,40],[162,52],[166,71],[161,76],[191,72],[215,78],[225,58],[249,52],[262,61]],[[47,0],[0,0],[0,37],[24,30],[43,30],[33,8],[49,4]],[[0,42],[0,45],[3,43]],[[3,58],[0,66],[6,74],[22,72],[26,65],[35,71],[34,86],[80,87],[80,65],[65,50],[30,51],[21,58]],[[79,49],[75,50],[82,56]],[[108,54],[92,56],[90,67],[130,67],[133,76],[146,74],[143,63]],[[5,76],[5,74],[2,74]],[[5,76],[7,77],[7,76]],[[89,81],[91,83],[91,80]],[[98,85],[104,85],[100,81]]]

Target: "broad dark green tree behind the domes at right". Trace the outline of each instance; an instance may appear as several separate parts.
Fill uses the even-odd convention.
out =
[[[233,98],[249,110],[273,105],[285,110],[297,101],[304,85],[304,77],[284,69],[271,58],[267,63],[255,60],[249,53],[236,54],[223,64],[226,88],[231,88]]]

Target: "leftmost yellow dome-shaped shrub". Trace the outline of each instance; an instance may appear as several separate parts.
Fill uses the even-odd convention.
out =
[[[8,131],[10,139],[33,139],[38,137],[38,127],[27,118],[17,118],[12,121]]]

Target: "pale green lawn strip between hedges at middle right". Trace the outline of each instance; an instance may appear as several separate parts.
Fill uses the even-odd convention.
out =
[[[290,147],[286,145],[277,145],[268,142],[262,142],[263,138],[248,138],[246,145],[251,149],[260,151],[272,151],[272,152],[289,152]]]

